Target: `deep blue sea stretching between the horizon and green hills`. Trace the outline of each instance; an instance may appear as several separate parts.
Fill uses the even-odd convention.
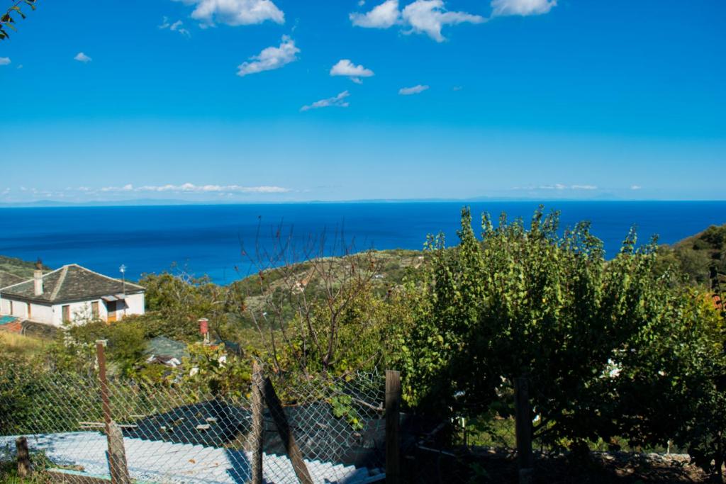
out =
[[[460,209],[484,211],[497,218],[528,220],[537,202],[401,202],[277,205],[174,205],[136,207],[2,208],[0,254],[30,261],[42,258],[51,267],[78,263],[95,271],[138,279],[172,263],[192,274],[208,274],[227,284],[255,271],[250,257],[272,250],[277,231],[293,234],[298,256],[310,237],[334,234],[356,250],[420,249],[427,234],[457,241]],[[561,226],[591,221],[609,256],[617,253],[631,226],[641,241],[654,234],[673,243],[711,224],[726,223],[726,202],[547,202],[560,210]],[[475,227],[476,229],[476,227]],[[242,248],[248,255],[244,255]]]

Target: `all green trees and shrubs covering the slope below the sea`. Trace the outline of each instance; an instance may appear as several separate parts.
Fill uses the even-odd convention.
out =
[[[726,459],[726,321],[703,282],[711,263],[723,263],[725,227],[674,247],[638,247],[632,232],[606,261],[589,224],[559,231],[558,213],[540,209],[529,224],[504,215],[495,224],[485,214],[481,237],[472,224],[463,210],[460,240],[450,247],[438,236],[423,252],[301,263],[280,239],[256,274],[227,287],[150,274],[141,281],[146,315],[88,321],[46,345],[13,343],[0,360],[16,373],[56,372],[73,382],[94,371],[94,342],[105,339],[112,377],[138,393],[172,389],[189,402],[244,397],[252,357],[288,403],[299,403],[299,382],[325,387],[359,370],[397,368],[409,411],[463,417],[467,427],[449,438],[466,430],[470,444],[486,446],[512,445],[513,382],[523,377],[538,446],[582,456],[587,448],[672,445],[718,476]],[[210,320],[213,345],[200,343],[200,317]],[[181,368],[145,362],[147,342],[159,335],[187,343]],[[23,399],[44,389],[32,379],[3,383],[2,361],[0,396],[35,411]],[[359,428],[345,395],[328,403]]]

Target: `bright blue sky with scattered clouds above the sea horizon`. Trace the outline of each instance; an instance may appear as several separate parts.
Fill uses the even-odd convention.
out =
[[[0,202],[722,200],[725,15],[38,0],[0,41]]]

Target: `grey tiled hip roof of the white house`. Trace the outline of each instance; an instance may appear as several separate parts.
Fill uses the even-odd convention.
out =
[[[121,279],[104,276],[78,264],[69,264],[43,275],[43,294],[35,295],[33,279],[0,289],[2,298],[18,298],[41,303],[63,303],[66,301],[101,298],[107,295],[136,294],[144,288]]]

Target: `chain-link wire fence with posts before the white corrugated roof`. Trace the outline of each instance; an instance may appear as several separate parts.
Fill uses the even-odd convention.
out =
[[[251,364],[251,363],[250,363]],[[99,374],[0,368],[0,460],[27,438],[36,469],[65,480],[370,483],[383,480],[385,377],[284,382],[234,394]],[[256,398],[258,395],[259,398]],[[87,482],[87,481],[86,481]]]

